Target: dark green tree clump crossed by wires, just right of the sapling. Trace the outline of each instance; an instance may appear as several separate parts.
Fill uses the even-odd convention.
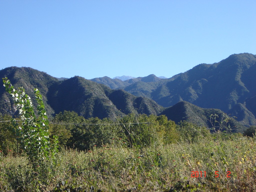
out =
[[[50,136],[54,134],[59,137],[60,146],[88,150],[111,143],[112,138],[118,137],[118,130],[110,119],[84,119],[74,111],[64,111],[57,114],[50,125]]]

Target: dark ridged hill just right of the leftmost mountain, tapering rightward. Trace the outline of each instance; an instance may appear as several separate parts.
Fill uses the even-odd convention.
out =
[[[158,114],[163,107],[148,98],[136,97],[123,90],[112,90],[102,84],[73,77],[48,93],[48,103],[55,113],[75,111],[85,118],[109,117],[129,113]]]

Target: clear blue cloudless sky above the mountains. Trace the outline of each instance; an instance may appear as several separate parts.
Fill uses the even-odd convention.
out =
[[[0,67],[169,78],[256,54],[255,10],[255,0],[0,0]]]

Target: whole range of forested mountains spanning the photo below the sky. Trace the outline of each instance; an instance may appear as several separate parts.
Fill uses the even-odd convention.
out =
[[[164,114],[178,123],[192,121],[210,126],[210,114],[237,116],[238,126],[256,125],[256,56],[233,54],[214,64],[200,64],[168,79],[151,74],[127,80],[109,77],[55,78],[26,67],[0,70],[17,87],[33,97],[42,94],[48,115],[75,111],[85,118],[115,119],[118,115]],[[4,87],[0,89],[0,113],[15,114],[16,108]]]

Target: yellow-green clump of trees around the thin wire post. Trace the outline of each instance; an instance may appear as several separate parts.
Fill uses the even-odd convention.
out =
[[[118,120],[130,147],[176,142],[178,133],[173,121],[164,115],[129,114]]]

